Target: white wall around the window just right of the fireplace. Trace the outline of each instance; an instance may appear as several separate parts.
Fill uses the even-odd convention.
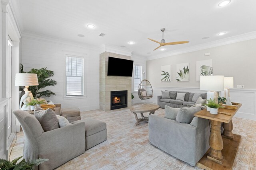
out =
[[[146,58],[145,57],[140,57],[137,55],[132,55],[132,60],[134,61],[134,65],[140,65],[142,66],[142,73],[145,71],[146,72]],[[133,69],[134,71],[134,69]],[[134,73],[133,73],[134,75]],[[144,75],[144,79],[147,78],[147,72]],[[137,89],[138,87],[134,87],[134,77],[132,77],[132,94],[134,98],[132,99],[132,104],[135,103],[140,103],[140,102],[146,102],[146,100],[141,100],[138,96],[138,92],[134,92],[134,88]]]

